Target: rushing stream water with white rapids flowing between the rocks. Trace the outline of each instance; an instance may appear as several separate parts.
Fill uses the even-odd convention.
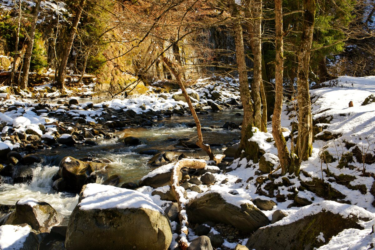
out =
[[[209,128],[211,125],[222,126],[226,121],[239,124],[242,116],[235,114],[241,112],[238,109],[225,109],[222,112],[210,112],[199,115],[202,127]],[[118,174],[121,182],[137,182],[142,176],[154,168],[147,165],[152,155],[140,154],[142,150],[155,149],[159,151],[174,151],[184,153],[187,156],[204,156],[202,150],[187,150],[176,148],[174,145],[179,139],[196,141],[196,129],[189,128],[187,123],[193,122],[191,116],[172,116],[159,121],[157,127],[135,127],[126,128],[117,132],[122,136],[134,136],[144,143],[138,146],[126,146],[116,143],[117,139],[98,139],[98,145],[76,145],[75,147],[61,146],[39,152],[44,158],[43,164],[39,164],[33,171],[33,179],[30,183],[12,184],[11,181],[3,179],[0,185],[0,204],[15,204],[18,199],[32,197],[46,201],[57,211],[64,215],[71,213],[78,203],[78,195],[70,193],[56,193],[52,187],[52,177],[58,171],[58,165],[65,156],[80,159],[90,156],[98,159],[109,159],[112,163],[106,170],[98,174],[97,182],[101,183],[108,176]],[[228,131],[224,129],[207,129],[202,131],[204,142],[211,144],[215,153],[220,153],[223,146],[220,144],[231,143],[238,140],[240,131]],[[216,145],[216,146],[215,146]]]

